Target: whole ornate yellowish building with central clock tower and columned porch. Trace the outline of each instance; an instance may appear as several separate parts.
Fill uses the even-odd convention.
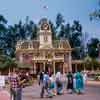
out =
[[[72,70],[71,46],[68,40],[52,40],[52,31],[47,19],[38,25],[36,40],[19,40],[16,58],[20,63],[30,64],[34,73],[42,70],[56,73]]]

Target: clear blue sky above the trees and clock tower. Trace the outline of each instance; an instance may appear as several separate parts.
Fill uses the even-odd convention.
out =
[[[98,0],[0,0],[0,14],[8,24],[24,21],[26,16],[36,23],[43,17],[55,21],[57,13],[61,13],[66,23],[79,20],[83,32],[100,38],[100,22],[89,19],[89,13],[97,7]]]

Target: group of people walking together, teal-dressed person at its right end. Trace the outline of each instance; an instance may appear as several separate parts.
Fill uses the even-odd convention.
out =
[[[85,78],[79,71],[64,74],[58,71],[56,75],[53,73],[49,74],[48,72],[40,72],[38,79],[39,85],[41,86],[41,98],[43,98],[45,94],[47,94],[48,97],[53,97],[64,94],[65,92],[70,94],[82,94],[84,90]]]

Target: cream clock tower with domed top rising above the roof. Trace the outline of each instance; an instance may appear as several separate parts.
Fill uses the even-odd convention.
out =
[[[47,19],[42,19],[39,23],[38,38],[40,48],[52,48],[52,32]]]

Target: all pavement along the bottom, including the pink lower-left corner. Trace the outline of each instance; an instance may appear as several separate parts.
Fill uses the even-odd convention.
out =
[[[57,95],[53,98],[47,98],[46,94],[45,97],[41,99],[40,90],[39,85],[36,83],[33,86],[24,88],[22,100],[100,100],[100,82],[97,81],[87,81],[82,95],[75,93],[68,94],[65,92],[64,95]],[[0,90],[0,100],[10,100],[7,90]]]

